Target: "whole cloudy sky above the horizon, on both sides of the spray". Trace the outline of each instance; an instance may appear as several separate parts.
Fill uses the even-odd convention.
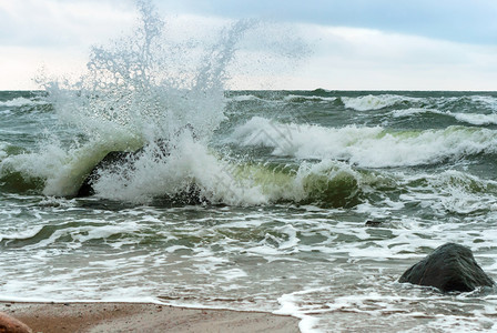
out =
[[[185,34],[255,18],[273,22],[260,34],[266,44],[294,38],[307,46],[286,67],[234,71],[232,89],[497,90],[495,0],[152,2]],[[132,0],[0,0],[0,90],[37,89],[40,72],[78,75],[92,46],[135,21]],[[239,58],[247,54],[241,48]]]

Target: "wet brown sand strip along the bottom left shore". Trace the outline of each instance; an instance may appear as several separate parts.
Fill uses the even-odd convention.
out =
[[[265,312],[124,302],[0,302],[33,332],[300,332],[300,320]]]

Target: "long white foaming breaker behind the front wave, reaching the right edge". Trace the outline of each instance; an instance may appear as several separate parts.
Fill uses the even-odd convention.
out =
[[[240,145],[273,148],[274,155],[346,160],[359,167],[388,168],[439,163],[478,153],[495,153],[497,134],[487,129],[387,131],[381,127],[281,123],[254,117],[231,137]]]

